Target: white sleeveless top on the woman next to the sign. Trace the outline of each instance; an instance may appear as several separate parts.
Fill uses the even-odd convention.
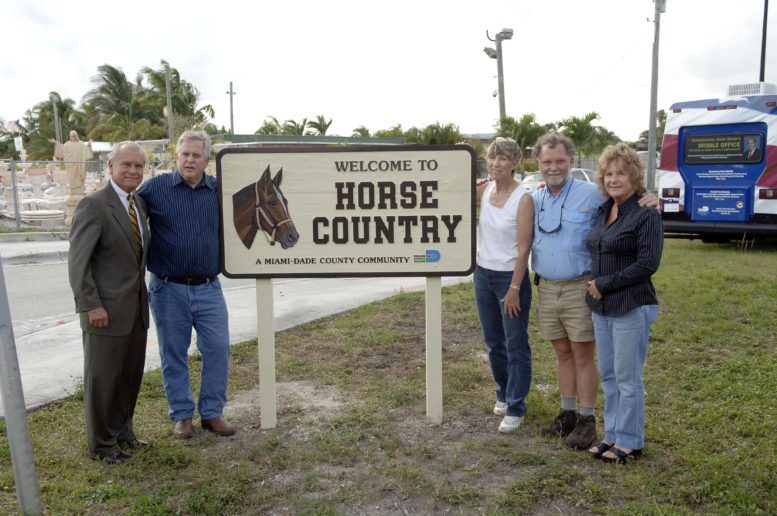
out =
[[[517,187],[497,208],[489,201],[494,188],[496,181],[486,186],[480,199],[477,262],[484,269],[513,271],[518,259],[518,202],[525,192]]]

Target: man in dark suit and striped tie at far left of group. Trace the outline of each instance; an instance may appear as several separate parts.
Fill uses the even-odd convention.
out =
[[[143,379],[148,332],[146,206],[132,193],[146,157],[135,142],[108,156],[110,181],[84,197],[70,228],[68,272],[84,340],[84,405],[89,456],[126,461],[148,445],[132,415]]]

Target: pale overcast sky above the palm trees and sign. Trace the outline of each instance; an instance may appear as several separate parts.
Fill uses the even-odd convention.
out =
[[[133,79],[166,59],[227,129],[233,82],[238,133],[269,115],[317,114],[346,136],[433,122],[487,133],[499,104],[486,30],[509,27],[508,115],[546,123],[597,111],[634,140],[649,122],[653,9],[651,0],[2,0],[0,118],[22,118],[50,91],[80,104],[102,64]],[[763,0],[667,0],[658,107],[758,81],[763,9]],[[771,20],[774,11],[773,2]],[[777,83],[777,23],[770,29],[766,80]]]

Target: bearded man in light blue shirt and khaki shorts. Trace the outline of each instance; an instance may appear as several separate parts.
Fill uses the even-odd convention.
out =
[[[583,450],[597,436],[594,407],[599,389],[593,321],[585,302],[591,279],[586,239],[604,196],[595,184],[570,177],[575,146],[566,136],[548,133],[540,137],[533,154],[546,184],[532,194],[531,265],[539,281],[537,322],[556,352],[561,394],[559,415],[540,433],[563,436],[567,446]],[[651,194],[640,199],[640,205],[655,204]]]

